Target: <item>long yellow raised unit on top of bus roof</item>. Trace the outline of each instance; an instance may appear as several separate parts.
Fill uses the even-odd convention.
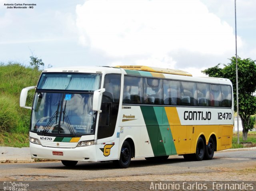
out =
[[[174,70],[174,69],[168,69],[168,68],[157,68],[157,67],[136,66],[136,65],[115,66],[115,67],[127,69],[127,70],[138,70],[138,71],[148,71],[148,72],[156,72],[156,73],[164,73],[164,74],[192,76],[192,74],[186,71]]]

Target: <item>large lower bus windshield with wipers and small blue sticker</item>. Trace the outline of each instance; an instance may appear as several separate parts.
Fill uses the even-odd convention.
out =
[[[42,135],[94,134],[92,98],[92,94],[37,92],[30,130]]]

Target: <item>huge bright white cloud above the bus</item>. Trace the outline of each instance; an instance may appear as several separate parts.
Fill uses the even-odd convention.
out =
[[[80,43],[110,57],[143,55],[136,63],[179,49],[210,55],[234,49],[232,27],[200,0],[88,0],[76,14]]]

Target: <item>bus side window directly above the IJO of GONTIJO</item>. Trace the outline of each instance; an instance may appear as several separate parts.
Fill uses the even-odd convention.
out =
[[[209,84],[197,83],[198,106],[210,105],[210,88]]]

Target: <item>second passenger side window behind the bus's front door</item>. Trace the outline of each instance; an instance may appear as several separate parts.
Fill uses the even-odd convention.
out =
[[[144,78],[144,104],[163,104],[162,80]]]

